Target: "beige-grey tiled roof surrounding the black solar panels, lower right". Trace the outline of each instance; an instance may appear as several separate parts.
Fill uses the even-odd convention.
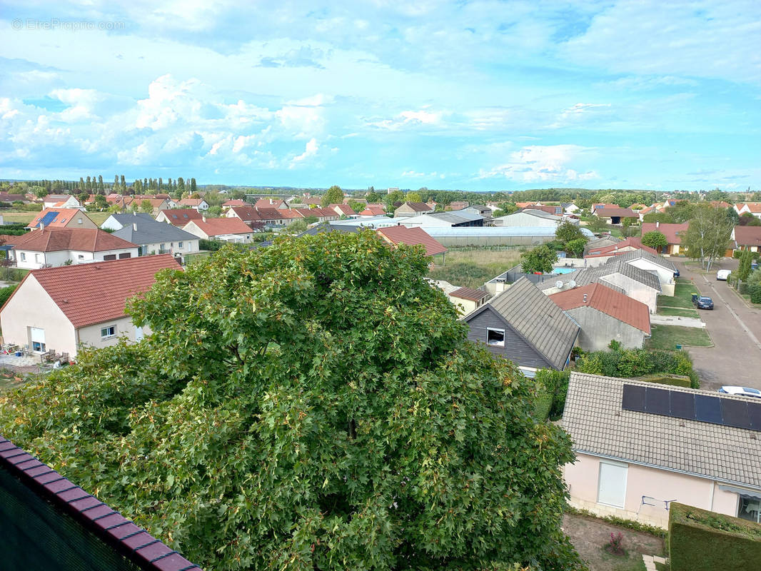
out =
[[[761,439],[753,430],[622,410],[623,385],[652,383],[572,372],[561,421],[577,452],[604,455],[761,490]],[[667,387],[670,391],[712,391]]]

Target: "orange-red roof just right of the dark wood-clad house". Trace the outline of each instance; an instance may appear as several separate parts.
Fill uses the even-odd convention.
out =
[[[650,335],[648,306],[600,283],[553,293],[549,298],[563,311],[588,306]]]

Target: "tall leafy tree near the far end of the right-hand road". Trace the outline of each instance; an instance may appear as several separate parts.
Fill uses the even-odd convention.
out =
[[[734,225],[723,209],[698,206],[682,237],[682,244],[689,257],[700,260],[705,270],[711,270],[713,261],[724,256],[732,228]]]

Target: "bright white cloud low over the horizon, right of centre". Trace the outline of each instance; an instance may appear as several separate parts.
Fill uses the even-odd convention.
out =
[[[583,161],[583,155],[593,150],[579,145],[531,145],[511,152],[503,164],[482,169],[479,178],[505,177],[527,183],[592,180],[599,177],[594,170],[578,172],[569,165]]]

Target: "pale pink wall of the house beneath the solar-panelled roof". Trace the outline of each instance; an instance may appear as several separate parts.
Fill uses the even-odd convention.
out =
[[[607,506],[597,502],[600,461],[606,460],[577,453],[577,461],[565,465],[565,483],[572,506],[598,515],[616,515],[661,528],[668,527],[669,512],[665,509],[664,500],[725,515],[737,515],[737,493],[720,490],[719,483],[714,480],[622,461],[614,462],[628,464],[624,506]],[[648,496],[645,501],[655,505],[643,504],[642,496]]]

